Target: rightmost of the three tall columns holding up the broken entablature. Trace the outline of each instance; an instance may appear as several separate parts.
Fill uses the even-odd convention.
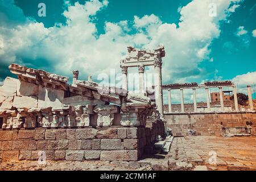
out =
[[[160,114],[163,115],[163,91],[162,91],[162,60],[155,59],[155,102]]]

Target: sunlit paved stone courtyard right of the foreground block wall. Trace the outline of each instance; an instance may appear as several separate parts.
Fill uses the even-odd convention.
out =
[[[167,156],[171,170],[256,170],[256,137],[177,137]]]

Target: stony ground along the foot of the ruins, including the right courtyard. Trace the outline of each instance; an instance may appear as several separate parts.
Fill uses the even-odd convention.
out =
[[[170,152],[159,156],[162,156],[162,158],[151,159],[148,157],[140,162],[130,163],[47,161],[46,164],[39,165],[37,161],[2,162],[0,163],[0,170],[145,171],[169,169],[256,171],[256,137],[177,137],[172,142]],[[154,165],[152,162],[154,162]]]

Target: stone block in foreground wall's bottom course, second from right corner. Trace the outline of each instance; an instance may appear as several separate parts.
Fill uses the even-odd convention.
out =
[[[125,155],[124,150],[102,150],[101,151],[101,160],[106,160],[106,161],[119,161],[123,160],[123,157]]]

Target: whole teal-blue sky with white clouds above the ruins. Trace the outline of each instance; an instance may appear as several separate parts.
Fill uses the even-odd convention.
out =
[[[40,2],[46,17],[38,16]],[[126,46],[164,44],[164,83],[232,80],[246,92],[256,84],[255,17],[250,0],[0,0],[0,82],[10,63],[69,77],[79,69],[97,81],[120,72]]]

